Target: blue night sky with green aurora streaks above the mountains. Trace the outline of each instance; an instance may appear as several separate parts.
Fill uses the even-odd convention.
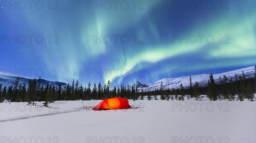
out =
[[[117,86],[256,65],[254,0],[23,2],[1,1],[3,72]]]

